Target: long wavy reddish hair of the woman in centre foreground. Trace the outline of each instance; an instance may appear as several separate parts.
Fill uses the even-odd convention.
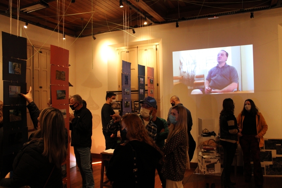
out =
[[[162,154],[159,147],[154,143],[153,139],[149,137],[148,131],[138,115],[133,113],[125,114],[122,116],[122,122],[124,122],[127,127],[127,135],[129,137],[141,142],[146,142],[147,144],[155,147]],[[120,122],[120,124],[122,122]]]

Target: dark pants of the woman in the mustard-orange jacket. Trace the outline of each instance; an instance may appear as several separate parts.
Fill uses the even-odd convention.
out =
[[[244,177],[246,181],[252,178],[251,155],[254,161],[254,180],[256,185],[263,184],[263,174],[261,169],[260,148],[256,135],[243,135],[240,137],[240,146],[243,151]]]

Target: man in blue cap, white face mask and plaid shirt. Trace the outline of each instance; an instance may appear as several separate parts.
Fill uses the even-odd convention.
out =
[[[147,96],[142,101],[140,101],[141,109],[140,113],[138,114],[145,124],[145,128],[148,131],[149,136],[154,140],[156,143],[157,141],[157,125],[155,125],[150,117],[153,113],[154,109],[157,109],[157,101],[155,98]]]

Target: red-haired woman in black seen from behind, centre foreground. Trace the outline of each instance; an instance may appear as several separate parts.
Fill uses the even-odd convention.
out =
[[[125,114],[121,125],[129,142],[115,148],[106,173],[108,179],[113,181],[113,188],[154,188],[160,150],[136,114]]]

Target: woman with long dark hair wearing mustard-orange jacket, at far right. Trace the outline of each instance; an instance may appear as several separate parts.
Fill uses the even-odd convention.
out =
[[[254,161],[254,180],[256,187],[262,187],[263,174],[260,162],[260,147],[263,147],[268,126],[263,115],[259,112],[255,103],[251,99],[245,100],[242,112],[237,117],[237,123],[242,129],[238,134],[239,143],[243,151],[244,177],[245,182],[250,182],[252,178],[251,156]]]

